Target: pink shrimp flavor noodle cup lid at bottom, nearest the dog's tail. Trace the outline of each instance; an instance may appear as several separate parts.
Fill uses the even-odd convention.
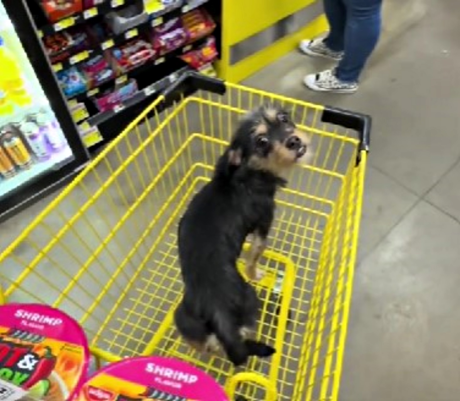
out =
[[[75,401],[229,401],[213,378],[183,361],[128,358],[95,373]]]

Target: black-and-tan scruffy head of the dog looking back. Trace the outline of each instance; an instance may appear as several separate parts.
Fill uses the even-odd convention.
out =
[[[279,176],[299,161],[306,161],[310,139],[279,106],[263,106],[241,121],[230,147],[228,163],[265,170]]]

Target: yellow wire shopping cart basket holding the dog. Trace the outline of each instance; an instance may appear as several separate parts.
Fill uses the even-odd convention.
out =
[[[234,368],[223,355],[190,349],[175,330],[176,229],[239,117],[269,102],[292,110],[315,156],[277,195],[260,261],[257,335],[277,353]],[[98,361],[151,354],[189,361],[232,400],[337,400],[369,130],[367,116],[184,74],[6,248],[0,302],[68,312]]]

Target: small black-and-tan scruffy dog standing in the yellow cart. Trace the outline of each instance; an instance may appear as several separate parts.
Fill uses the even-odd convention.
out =
[[[309,138],[288,113],[261,107],[243,118],[220,156],[213,179],[192,199],[178,228],[184,297],[174,313],[178,331],[193,347],[222,346],[234,365],[275,349],[247,338],[256,325],[259,298],[236,268],[247,235],[253,235],[246,273],[258,280],[282,173],[303,159]]]

